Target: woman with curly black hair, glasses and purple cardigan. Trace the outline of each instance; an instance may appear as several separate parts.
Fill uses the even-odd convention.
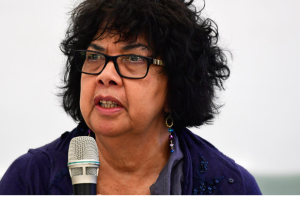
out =
[[[8,169],[1,195],[72,195],[70,140],[95,137],[101,195],[261,195],[255,179],[186,127],[218,113],[229,77],[213,21],[182,0],[85,0],[61,49],[63,108],[79,125]]]

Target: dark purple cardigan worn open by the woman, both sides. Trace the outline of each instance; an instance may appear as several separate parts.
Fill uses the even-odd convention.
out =
[[[184,154],[183,196],[261,196],[251,174],[188,129],[176,132]],[[79,124],[72,132],[38,149],[31,149],[9,167],[0,182],[0,196],[70,196],[67,168],[73,137],[87,135]]]

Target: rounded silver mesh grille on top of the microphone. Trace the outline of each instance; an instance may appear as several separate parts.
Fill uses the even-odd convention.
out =
[[[71,140],[69,146],[70,160],[96,160],[99,161],[98,147],[92,137],[80,136]]]

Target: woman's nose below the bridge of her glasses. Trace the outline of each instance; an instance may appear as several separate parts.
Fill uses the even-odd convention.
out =
[[[116,71],[115,64],[112,60],[107,63],[103,71],[97,76],[96,82],[103,86],[122,85],[122,77],[120,77]]]

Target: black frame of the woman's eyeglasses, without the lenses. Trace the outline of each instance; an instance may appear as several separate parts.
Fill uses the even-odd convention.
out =
[[[97,53],[97,54],[103,55],[105,57],[105,64],[103,66],[103,69],[99,73],[87,73],[87,72],[83,72],[82,69],[81,70],[79,69],[79,67],[78,67],[78,65],[76,63],[76,52],[91,52],[91,53]],[[118,63],[117,63],[117,59],[119,57],[121,57],[121,56],[138,56],[138,57],[141,57],[141,58],[144,58],[145,60],[147,60],[147,72],[146,72],[145,76],[143,76],[141,78],[133,78],[133,77],[128,77],[128,76],[122,75],[121,72],[120,72],[120,70],[119,70]],[[117,56],[109,56],[109,55],[106,55],[104,53],[101,53],[101,52],[98,52],[98,51],[91,51],[91,50],[75,50],[74,51],[74,59],[75,59],[75,66],[76,66],[77,70],[80,73],[82,73],[82,74],[88,74],[88,75],[99,75],[99,74],[101,74],[103,72],[103,70],[105,69],[105,67],[107,66],[107,64],[110,61],[113,61],[115,69],[116,69],[117,73],[119,74],[119,76],[123,77],[123,78],[128,78],[128,79],[144,79],[148,75],[149,68],[150,68],[151,64],[158,65],[158,66],[165,66],[165,63],[162,60],[155,59],[155,58],[140,56],[140,55],[136,55],[136,54],[123,54],[123,55],[117,55]],[[82,67],[83,67],[83,65],[82,65]]]

